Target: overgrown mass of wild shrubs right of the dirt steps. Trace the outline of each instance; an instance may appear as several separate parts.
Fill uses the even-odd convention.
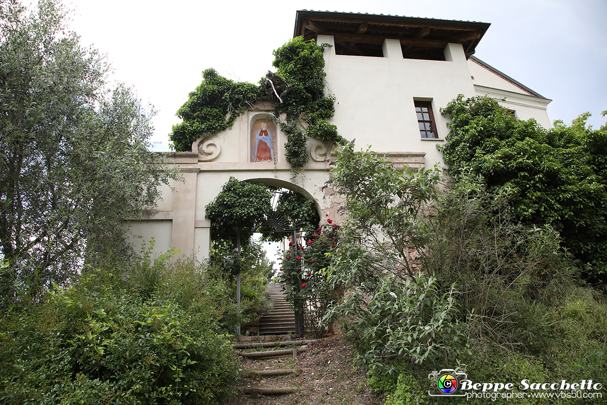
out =
[[[475,382],[605,384],[605,297],[579,279],[558,232],[516,221],[510,191],[488,191],[469,171],[438,189],[432,173],[342,153],[332,175],[348,221],[329,269],[348,291],[327,319],[345,316],[388,403],[456,401],[425,395],[430,370],[456,367]]]

